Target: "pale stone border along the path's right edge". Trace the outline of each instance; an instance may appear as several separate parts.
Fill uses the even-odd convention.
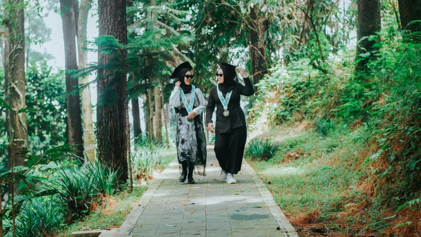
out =
[[[273,199],[273,196],[269,192],[268,188],[266,187],[266,184],[263,183],[263,181],[259,178],[259,176],[256,174],[254,169],[248,164],[247,160],[245,159],[243,159],[243,166],[245,167],[246,171],[250,174],[250,176],[253,178],[254,182],[256,183],[256,187],[259,190],[260,195],[262,196],[266,205],[268,205],[268,208],[270,212],[272,213],[272,216],[275,218],[284,236],[285,237],[299,237],[294,227],[289,222],[288,218],[285,216],[285,214],[282,212],[279,205]]]

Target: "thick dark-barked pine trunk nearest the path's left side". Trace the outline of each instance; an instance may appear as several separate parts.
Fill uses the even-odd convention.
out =
[[[101,79],[97,86],[98,160],[118,170],[119,181],[124,183],[128,179],[130,151],[125,65],[106,65],[118,63],[117,58],[126,60],[126,52],[121,50],[127,43],[125,0],[98,1],[98,19],[98,61],[103,65],[98,69]],[[113,50],[116,47],[119,50]]]

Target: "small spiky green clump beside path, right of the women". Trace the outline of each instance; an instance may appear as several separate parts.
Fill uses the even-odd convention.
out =
[[[251,158],[270,159],[279,149],[279,145],[273,143],[270,139],[263,140],[255,138],[248,143],[246,155]]]

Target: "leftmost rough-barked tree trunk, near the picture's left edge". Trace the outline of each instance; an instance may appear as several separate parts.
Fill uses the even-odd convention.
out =
[[[7,69],[7,93],[6,102],[15,112],[26,108],[25,99],[25,17],[23,0],[8,1],[14,4],[8,8],[9,12],[6,25],[9,33],[9,57]],[[7,60],[6,60],[7,62]],[[7,114],[9,126],[13,132],[13,153],[28,150],[28,125],[26,114],[20,113],[15,116],[13,113]],[[13,157],[14,165],[26,166],[25,158],[18,155]],[[12,167],[12,159],[9,159],[9,166]]]

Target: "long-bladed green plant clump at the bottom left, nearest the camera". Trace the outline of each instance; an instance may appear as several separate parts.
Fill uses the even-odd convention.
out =
[[[51,198],[32,198],[16,218],[16,236],[49,236],[63,220],[63,207]]]

